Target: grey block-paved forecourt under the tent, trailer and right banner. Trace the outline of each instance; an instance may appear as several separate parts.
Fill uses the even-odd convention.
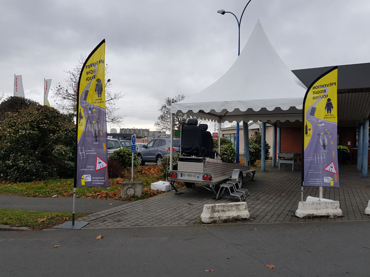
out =
[[[248,223],[276,223],[302,221],[370,221],[364,214],[370,199],[370,179],[362,178],[353,166],[342,166],[340,188],[324,188],[324,197],[339,200],[343,217],[338,219],[299,219],[294,211],[301,201],[301,171],[281,171],[267,164],[267,171],[257,171],[255,181],[245,179],[243,187],[248,188],[248,210],[251,220]],[[123,228],[134,226],[171,226],[195,224],[204,204],[238,201],[233,197],[223,197],[215,201],[214,195],[204,188],[183,188],[185,192],[175,195],[163,193],[147,200],[90,214],[81,220],[90,222],[84,229]],[[306,196],[318,196],[319,188],[305,189]]]

